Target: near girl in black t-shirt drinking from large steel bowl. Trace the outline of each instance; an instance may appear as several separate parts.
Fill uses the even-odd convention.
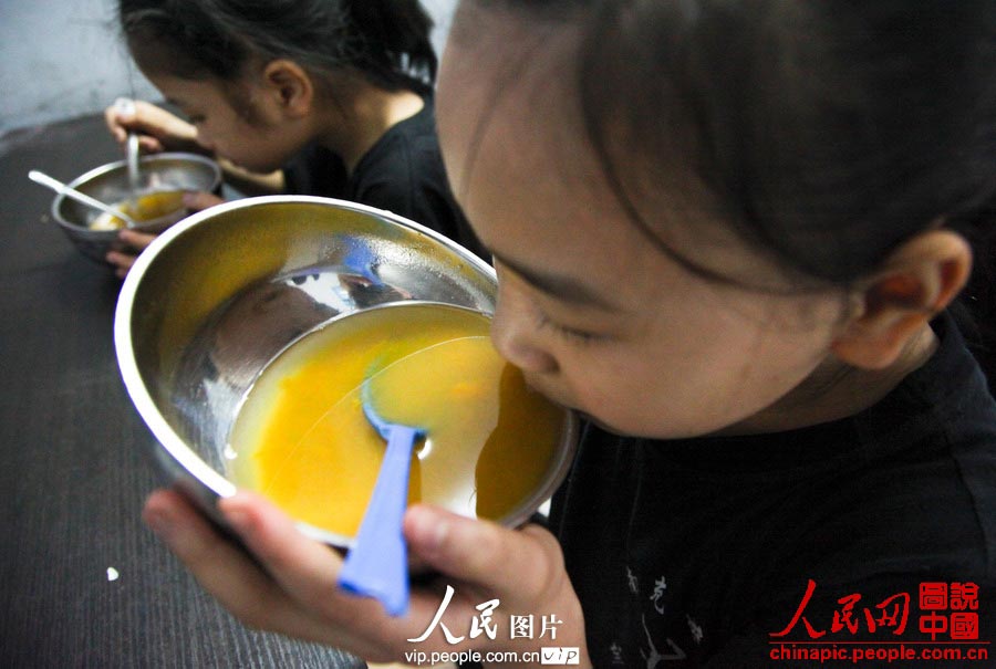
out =
[[[263,571],[153,494],[209,592],[375,660],[993,639],[996,406],[946,312],[994,224],[996,3],[467,0],[438,101],[495,346],[590,421],[550,529],[409,509],[438,576],[388,618],[266,500],[220,502]]]

